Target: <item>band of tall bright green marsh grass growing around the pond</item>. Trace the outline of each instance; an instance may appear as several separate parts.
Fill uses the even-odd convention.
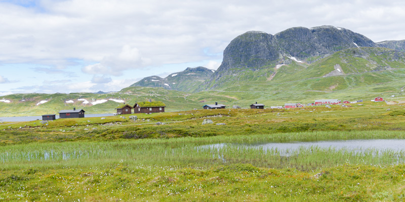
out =
[[[6,170],[29,166],[92,166],[120,160],[129,164],[203,167],[249,163],[258,167],[294,167],[299,170],[342,164],[388,166],[404,163],[404,151],[373,148],[358,151],[316,146],[281,150],[255,148],[247,143],[403,138],[404,135],[398,131],[303,132],[204,138],[30,143],[0,147],[0,162],[2,169]],[[225,144],[205,146],[218,143]]]

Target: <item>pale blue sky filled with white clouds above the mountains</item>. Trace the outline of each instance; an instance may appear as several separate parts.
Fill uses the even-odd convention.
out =
[[[0,96],[118,91],[187,67],[217,69],[247,31],[333,25],[405,39],[404,1],[0,0]]]

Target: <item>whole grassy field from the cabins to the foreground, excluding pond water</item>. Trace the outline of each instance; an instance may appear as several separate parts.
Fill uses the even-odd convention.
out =
[[[405,138],[403,106],[363,104],[0,123],[0,200],[402,201],[404,151],[240,144]]]

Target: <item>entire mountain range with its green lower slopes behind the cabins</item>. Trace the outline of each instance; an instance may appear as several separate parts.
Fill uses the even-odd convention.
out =
[[[187,68],[166,78],[146,77],[106,94],[13,94],[0,97],[1,116],[57,113],[83,108],[87,114],[152,98],[167,111],[201,109],[205,104],[268,106],[311,103],[314,99],[385,100],[405,103],[405,40],[373,42],[344,28],[295,27],[274,35],[249,31],[224,50],[217,71]],[[147,86],[147,87],[143,87]],[[394,96],[394,97],[392,97]]]

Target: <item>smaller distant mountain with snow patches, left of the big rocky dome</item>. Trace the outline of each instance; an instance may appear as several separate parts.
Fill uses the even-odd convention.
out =
[[[162,87],[168,90],[179,90],[185,92],[194,91],[199,85],[214,74],[214,70],[205,67],[187,68],[182,72],[170,74],[166,78],[149,76],[131,85],[144,87]]]

